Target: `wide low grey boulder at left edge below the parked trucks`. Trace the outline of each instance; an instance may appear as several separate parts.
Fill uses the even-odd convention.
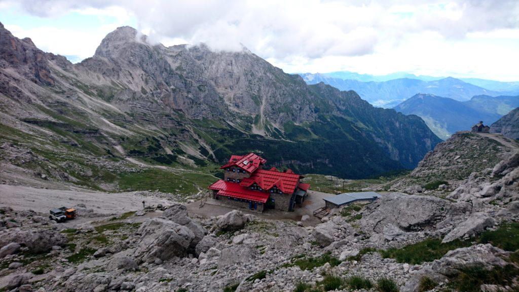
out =
[[[29,248],[33,253],[43,253],[52,246],[64,246],[66,237],[51,229],[19,230],[13,229],[0,235],[0,247],[18,243]]]

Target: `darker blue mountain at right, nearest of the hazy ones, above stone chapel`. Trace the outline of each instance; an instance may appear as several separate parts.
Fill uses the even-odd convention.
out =
[[[421,117],[442,139],[456,131],[468,130],[478,121],[492,124],[501,116],[519,107],[519,96],[474,96],[468,101],[417,94],[394,107],[403,114]]]

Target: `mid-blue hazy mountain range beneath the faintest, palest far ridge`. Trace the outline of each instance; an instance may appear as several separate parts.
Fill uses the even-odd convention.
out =
[[[329,77],[325,74],[302,74],[301,76],[308,84],[323,82],[340,90],[354,90],[362,99],[383,108],[392,108],[418,93],[443,96],[458,101],[470,100],[476,95],[501,95],[500,92],[490,91],[452,77],[431,81],[399,78],[384,82],[363,82]]]

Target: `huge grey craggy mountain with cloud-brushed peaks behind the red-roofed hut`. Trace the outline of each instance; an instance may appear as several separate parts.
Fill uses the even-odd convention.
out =
[[[165,47],[122,27],[72,64],[1,25],[0,53],[2,139],[47,158],[203,167],[254,151],[298,172],[362,178],[413,168],[441,141],[417,116],[306,85],[245,48]]]

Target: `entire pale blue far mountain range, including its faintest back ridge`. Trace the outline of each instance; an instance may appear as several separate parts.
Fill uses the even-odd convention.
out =
[[[340,90],[354,90],[362,99],[383,108],[392,108],[418,93],[458,101],[467,101],[476,95],[519,95],[519,82],[498,82],[476,78],[443,78],[408,73],[374,76],[352,72],[299,75],[308,84],[323,82]]]

